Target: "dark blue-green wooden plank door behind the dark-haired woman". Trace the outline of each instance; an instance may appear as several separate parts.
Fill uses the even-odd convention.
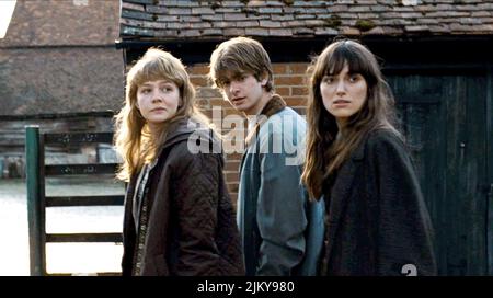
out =
[[[488,274],[488,76],[388,79],[435,228],[439,274]]]

